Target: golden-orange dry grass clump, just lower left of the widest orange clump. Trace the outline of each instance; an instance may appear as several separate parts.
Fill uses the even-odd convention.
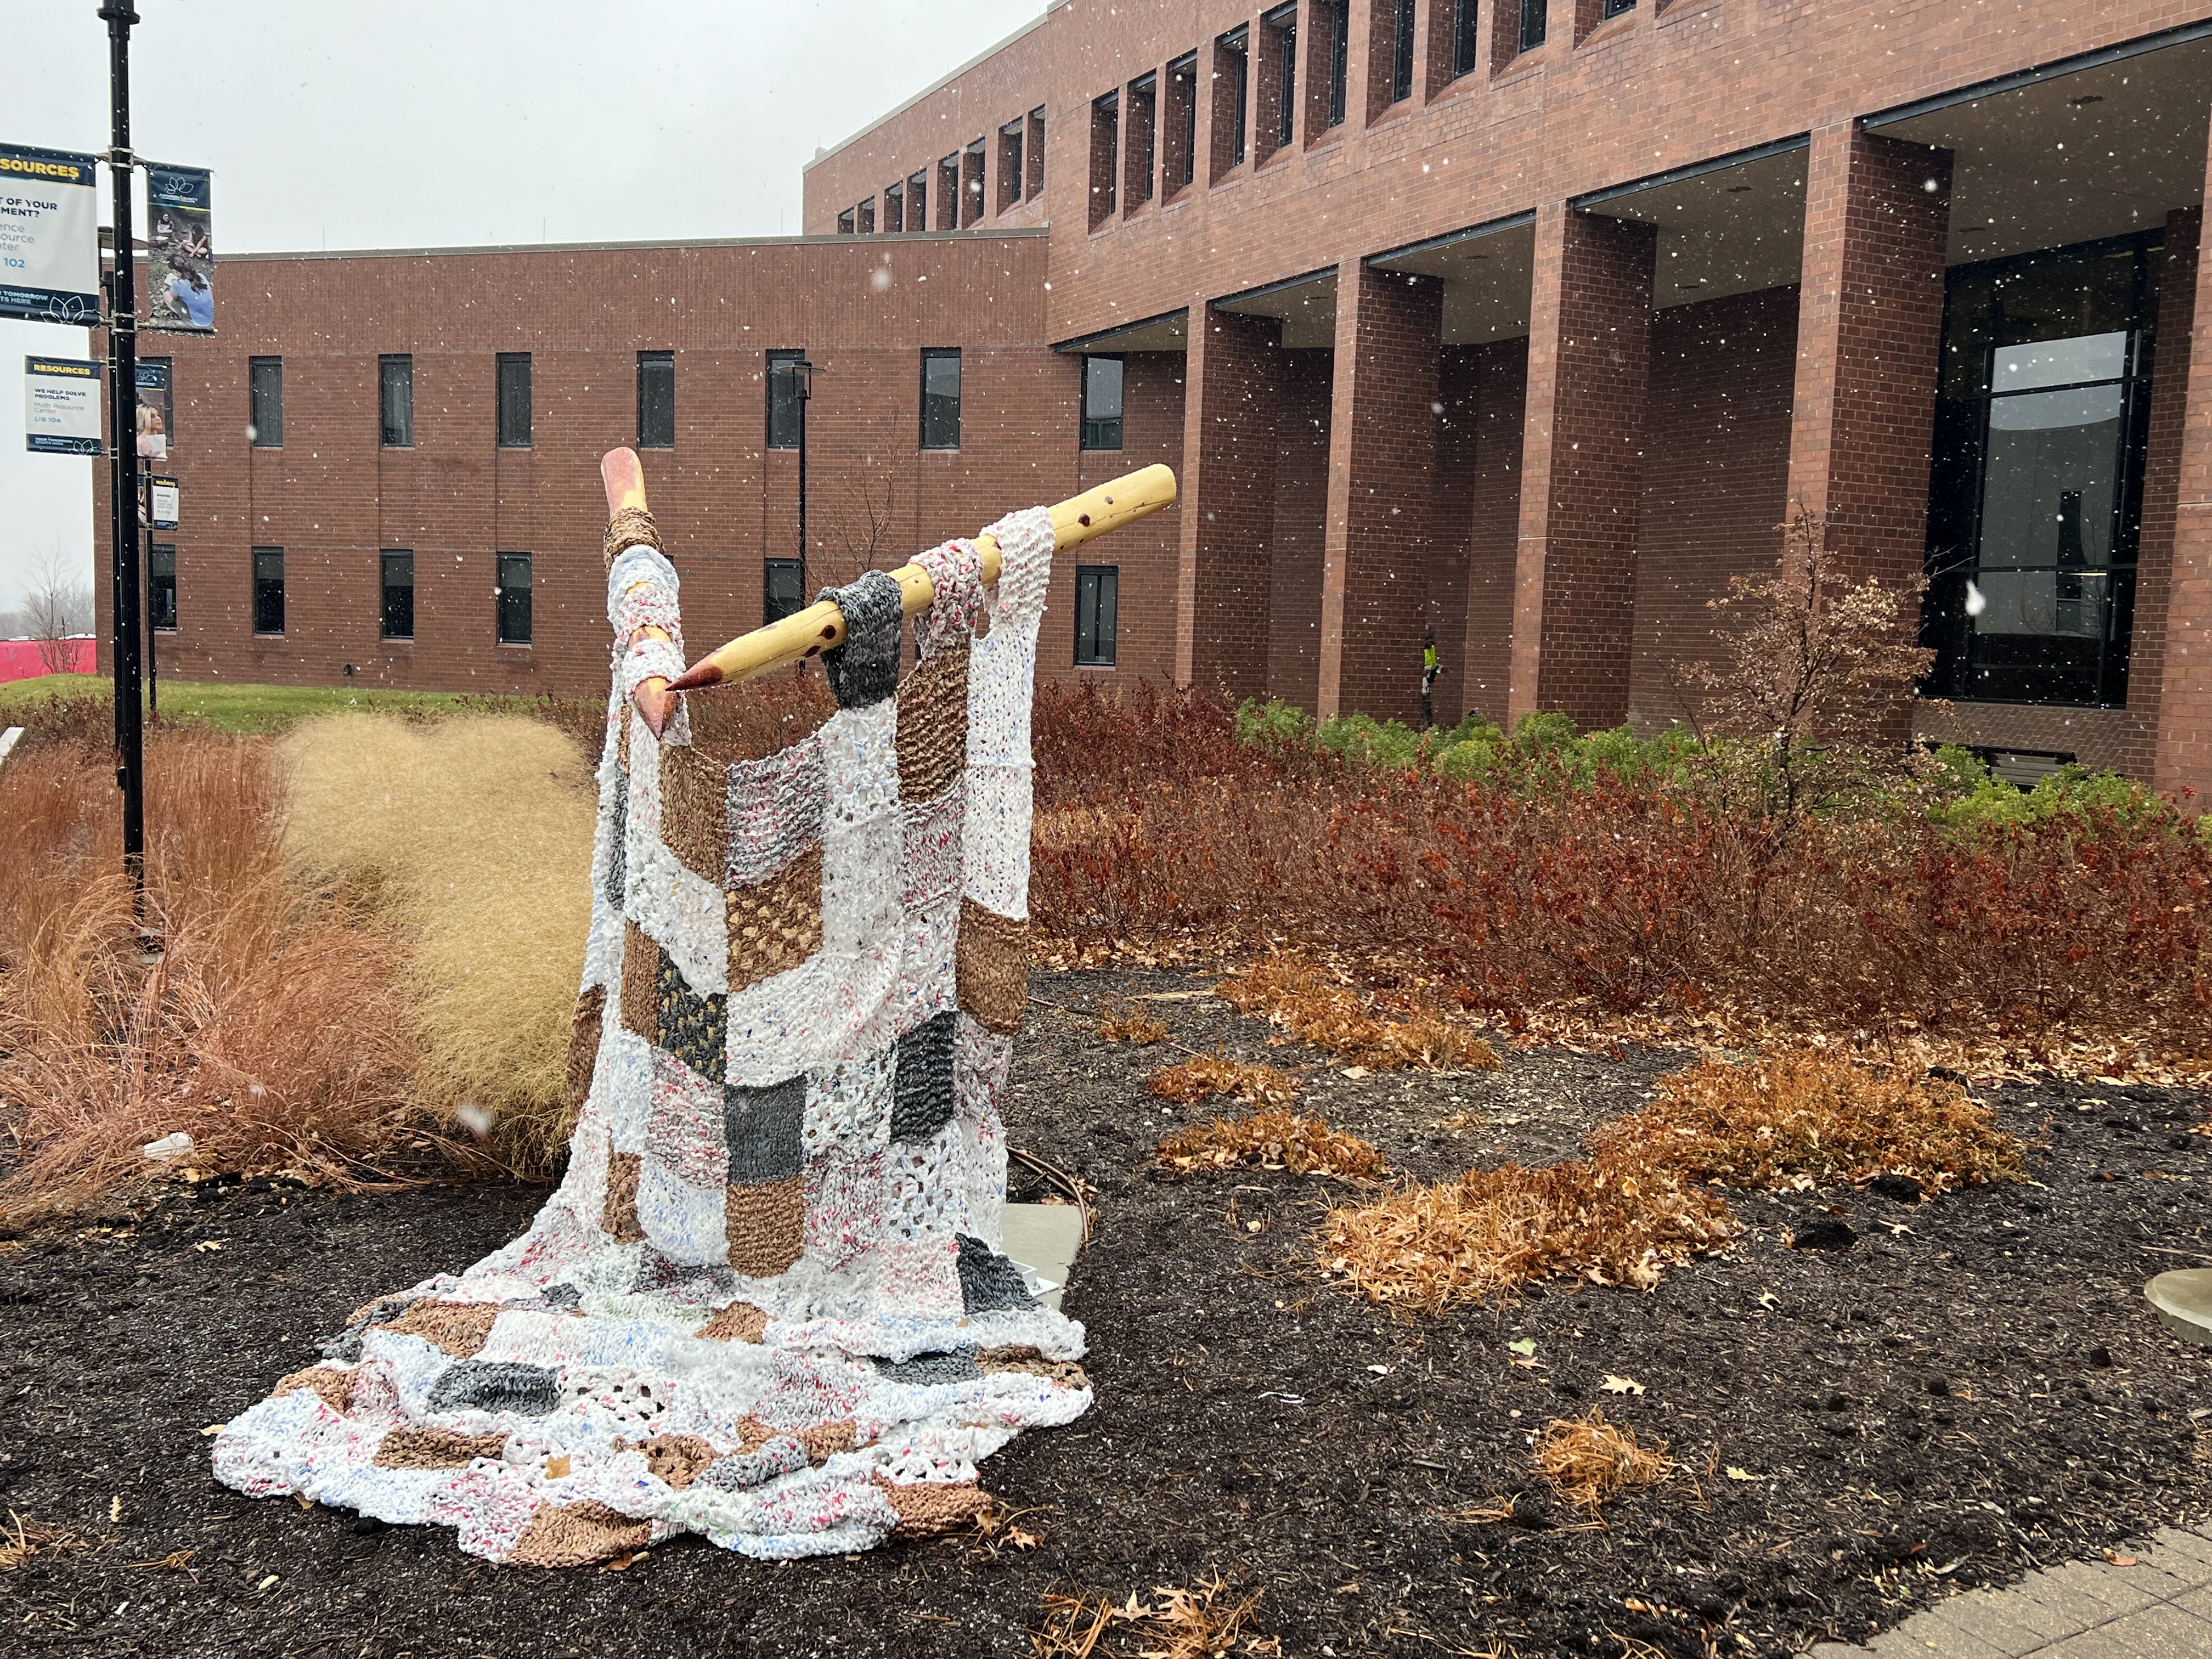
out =
[[[1652,1290],[1741,1230],[1719,1197],[1648,1170],[1506,1164],[1332,1210],[1318,1254],[1369,1301],[1438,1314],[1553,1274]]]

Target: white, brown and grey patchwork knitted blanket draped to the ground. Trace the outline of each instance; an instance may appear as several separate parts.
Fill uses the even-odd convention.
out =
[[[865,1548],[987,1500],[975,1464],[1091,1405],[1082,1325],[1000,1252],[998,1093],[1026,1002],[1029,706],[1053,531],[834,593],[838,712],[717,759],[633,688],[681,670],[677,573],[608,571],[617,646],[568,1175],[467,1272],[361,1307],[215,1440],[215,1473],[495,1562],[672,1533]],[[989,630],[978,637],[980,613]],[[639,637],[659,624],[670,639]]]

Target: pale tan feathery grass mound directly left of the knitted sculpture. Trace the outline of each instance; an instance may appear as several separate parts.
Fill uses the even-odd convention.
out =
[[[577,745],[533,719],[341,714],[294,728],[283,761],[294,869],[405,940],[420,1097],[487,1113],[511,1159],[549,1168],[591,929],[597,796]]]

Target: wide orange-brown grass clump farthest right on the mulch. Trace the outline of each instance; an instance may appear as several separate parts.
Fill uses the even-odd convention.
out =
[[[1655,1161],[1690,1181],[1772,1188],[1909,1175],[1924,1192],[2024,1181],[2020,1141],[1940,1077],[1876,1071],[1823,1048],[1708,1060],[1590,1133],[1599,1161]]]

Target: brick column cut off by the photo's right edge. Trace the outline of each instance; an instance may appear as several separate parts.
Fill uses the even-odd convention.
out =
[[[2168,272],[2174,272],[2172,261]],[[2203,807],[2201,796],[2212,794],[2212,259],[2201,254],[2194,288],[2188,327],[2177,330],[2179,338],[2159,334],[2159,361],[2152,365],[2159,378],[2172,374],[2188,380],[2174,484],[2166,661],[2159,672],[2159,759],[2152,781],[2161,790],[2197,790],[2194,805]],[[2170,314],[2161,305],[2159,321]],[[2185,365],[2177,361],[2183,349]],[[2137,628],[2141,630],[2141,622]]]

